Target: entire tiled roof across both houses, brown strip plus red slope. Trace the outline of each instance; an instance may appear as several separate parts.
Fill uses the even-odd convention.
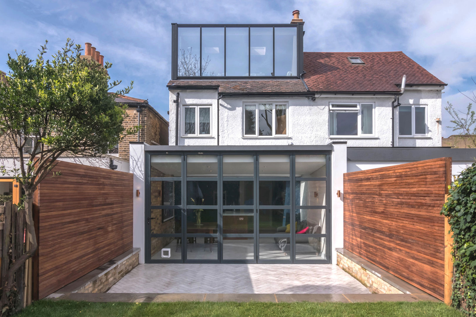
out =
[[[353,65],[347,57],[360,57]],[[403,52],[304,52],[304,81],[311,92],[398,92],[407,85],[446,85]],[[177,79],[169,88],[218,88],[219,93],[307,92],[300,79]]]

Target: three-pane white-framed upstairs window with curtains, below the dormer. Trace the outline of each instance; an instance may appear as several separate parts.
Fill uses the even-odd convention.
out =
[[[288,103],[244,103],[244,136],[288,136]]]

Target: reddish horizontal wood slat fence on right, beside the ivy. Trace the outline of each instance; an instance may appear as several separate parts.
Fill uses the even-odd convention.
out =
[[[344,248],[443,299],[451,158],[344,174]]]

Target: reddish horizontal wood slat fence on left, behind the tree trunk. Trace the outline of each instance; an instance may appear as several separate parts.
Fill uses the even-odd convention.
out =
[[[44,298],[132,248],[133,175],[60,161],[34,195],[33,298]]]

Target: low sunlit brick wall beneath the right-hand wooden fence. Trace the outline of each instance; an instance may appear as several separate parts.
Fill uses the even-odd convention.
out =
[[[337,253],[337,265],[356,278],[360,283],[370,288],[373,293],[377,294],[403,294],[402,291],[388,284],[377,275],[367,271],[354,261],[346,258],[340,253]]]

